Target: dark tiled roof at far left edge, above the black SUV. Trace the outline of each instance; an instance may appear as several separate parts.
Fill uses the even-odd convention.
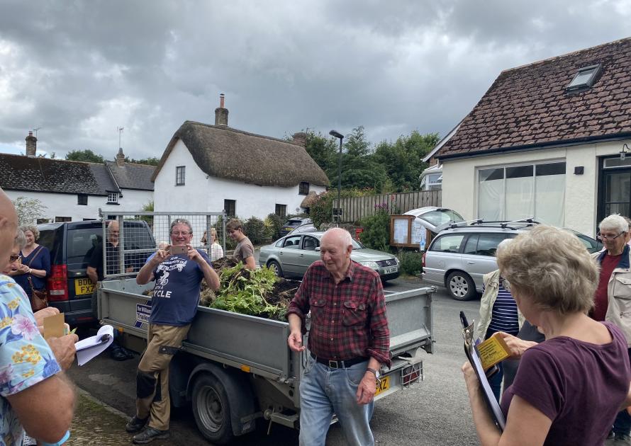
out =
[[[0,186],[48,193],[118,192],[104,164],[12,154],[0,154]]]

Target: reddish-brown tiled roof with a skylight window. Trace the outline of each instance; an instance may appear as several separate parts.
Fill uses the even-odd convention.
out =
[[[601,64],[592,88],[566,86]],[[631,38],[502,72],[436,156],[584,142],[631,134]]]

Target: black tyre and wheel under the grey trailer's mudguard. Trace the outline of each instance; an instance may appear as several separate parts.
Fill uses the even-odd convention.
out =
[[[211,374],[202,374],[195,380],[193,415],[197,428],[207,440],[225,445],[233,439],[228,395]]]

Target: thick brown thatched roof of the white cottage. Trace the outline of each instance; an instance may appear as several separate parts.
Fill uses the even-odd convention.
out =
[[[182,139],[199,168],[210,176],[284,187],[296,186],[301,181],[316,185],[329,183],[324,171],[300,144],[225,125],[193,121],[184,122],[175,132],[152,181],[155,181],[178,139]]]

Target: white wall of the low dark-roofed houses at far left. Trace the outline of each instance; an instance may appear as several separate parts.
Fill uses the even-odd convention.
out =
[[[88,195],[87,205],[77,205],[77,194],[25,192],[22,190],[4,190],[14,201],[18,197],[40,200],[46,207],[44,217],[55,221],[55,217],[70,217],[73,222],[83,219],[98,219],[99,207],[107,215],[116,212],[138,211],[143,204],[152,200],[152,191],[123,190],[123,197],[118,198],[119,205],[108,205],[107,197]],[[142,203],[142,204],[140,204]],[[34,222],[33,222],[34,223]]]

